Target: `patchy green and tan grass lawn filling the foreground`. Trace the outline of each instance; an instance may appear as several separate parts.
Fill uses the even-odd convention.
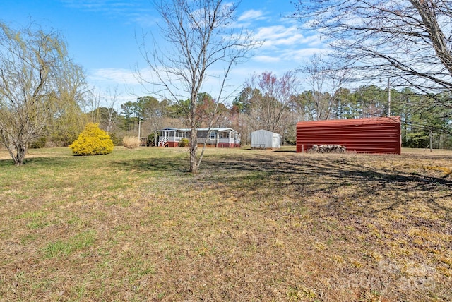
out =
[[[1,301],[452,301],[452,152],[0,150]]]

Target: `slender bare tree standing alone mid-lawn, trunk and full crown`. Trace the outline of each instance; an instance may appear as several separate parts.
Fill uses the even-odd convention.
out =
[[[168,46],[160,49],[153,38],[153,48],[145,45],[141,52],[155,75],[154,79],[138,74],[144,85],[152,85],[153,94],[174,102],[189,99],[186,115],[191,128],[190,169],[198,171],[203,151],[198,157],[196,144],[198,94],[208,79],[218,80],[217,104],[225,97],[227,78],[233,66],[247,59],[258,43],[248,32],[234,28],[239,2],[222,0],[155,0],[155,8],[162,18],[160,31]],[[215,68],[217,71],[215,71]],[[222,71],[218,72],[218,68]]]

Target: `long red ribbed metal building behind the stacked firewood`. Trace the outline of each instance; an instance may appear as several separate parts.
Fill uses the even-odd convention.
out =
[[[358,153],[400,154],[400,116],[300,121],[297,152],[313,145],[343,145],[347,151]]]

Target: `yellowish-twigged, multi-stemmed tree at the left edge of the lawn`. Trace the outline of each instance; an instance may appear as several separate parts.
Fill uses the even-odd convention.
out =
[[[68,90],[61,97],[58,90],[64,87],[61,83],[78,85],[61,80],[78,71],[57,32],[44,32],[35,25],[13,30],[0,23],[0,143],[16,165],[23,164],[28,144],[46,134],[61,102],[74,96]]]

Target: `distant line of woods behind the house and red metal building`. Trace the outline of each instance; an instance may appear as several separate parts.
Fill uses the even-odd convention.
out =
[[[291,85],[287,85],[290,82]],[[403,147],[429,147],[430,138],[434,148],[452,148],[452,109],[429,108],[431,96],[414,92],[410,88],[396,90],[391,87],[364,85],[357,89],[340,88],[332,97],[330,92],[295,91],[297,77],[289,72],[278,77],[273,73],[256,75],[244,83],[229,106],[201,93],[196,99],[197,128],[207,128],[213,119],[213,127],[231,127],[242,133],[242,144],[250,143],[252,131],[265,129],[279,133],[286,145],[295,145],[295,127],[298,121],[321,121],[325,119],[358,119],[367,117],[401,117]],[[270,87],[271,86],[271,89]],[[287,87],[291,86],[291,88]],[[283,91],[287,90],[284,95]],[[448,97],[448,95],[436,96]],[[189,99],[171,102],[156,97],[138,97],[135,102],[121,104],[121,110],[98,107],[95,122],[104,130],[109,129],[114,138],[150,135],[153,145],[157,131],[165,127],[188,128],[186,112]],[[116,140],[120,143],[120,140]]]

